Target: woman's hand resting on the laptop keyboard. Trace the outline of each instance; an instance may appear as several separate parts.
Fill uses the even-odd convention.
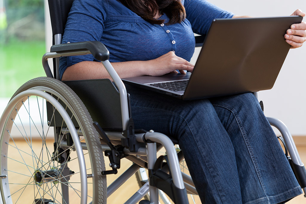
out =
[[[186,74],[184,70],[192,72],[194,65],[187,60],[177,57],[173,51],[170,51],[156,59],[147,61],[147,75],[161,76],[168,73],[178,73],[178,69],[182,74]]]

